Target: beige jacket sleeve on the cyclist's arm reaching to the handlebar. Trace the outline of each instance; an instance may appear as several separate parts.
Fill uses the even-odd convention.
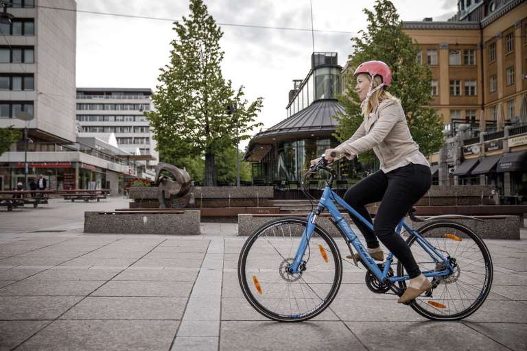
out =
[[[336,151],[351,160],[356,155],[373,149],[386,138],[386,135],[393,129],[393,126],[400,118],[401,110],[399,110],[399,104],[389,104],[379,110],[379,117],[368,134],[357,139],[353,139],[356,133],[353,134],[348,141],[338,145]]]

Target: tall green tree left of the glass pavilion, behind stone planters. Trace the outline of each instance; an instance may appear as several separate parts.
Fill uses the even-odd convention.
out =
[[[156,111],[145,114],[161,160],[180,165],[182,158],[204,156],[204,185],[213,186],[215,156],[233,144],[235,114],[229,114],[227,106],[237,94],[222,75],[220,27],[202,0],[191,0],[189,8],[189,18],[174,23],[177,37],[171,43],[170,62],[160,69],[160,84],[152,95]],[[261,99],[257,101],[261,106]]]

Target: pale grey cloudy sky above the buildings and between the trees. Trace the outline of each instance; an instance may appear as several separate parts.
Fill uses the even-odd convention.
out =
[[[312,0],[314,28],[358,32],[366,27],[363,8],[374,1]],[[434,17],[446,20],[456,0],[393,0],[403,21]],[[218,23],[310,28],[309,0],[205,0]],[[180,19],[184,0],[77,0],[78,10]],[[264,97],[259,121],[264,128],[285,118],[293,79],[303,79],[310,66],[311,32],[222,26],[224,77],[244,85],[247,98]],[[344,65],[352,34],[315,33],[316,51],[338,52]],[[170,21],[83,14],[77,19],[77,86],[147,87],[155,90],[159,68],[168,62],[175,37]],[[257,131],[255,131],[257,132]]]

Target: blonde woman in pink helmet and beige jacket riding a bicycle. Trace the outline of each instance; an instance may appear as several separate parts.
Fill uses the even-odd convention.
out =
[[[410,248],[395,232],[397,223],[430,189],[430,165],[412,139],[400,101],[386,91],[392,80],[388,65],[382,61],[364,62],[354,75],[364,121],[349,140],[335,149],[327,149],[325,159],[333,162],[345,156],[351,160],[370,149],[379,158],[381,169],[351,187],[344,200],[370,222],[371,217],[364,206],[381,202],[373,232],[359,220],[355,224],[364,234],[368,252],[376,261],[384,261],[378,238],[408,272],[410,283],[398,300],[405,303],[432,288],[421,274]],[[360,259],[360,256],[355,254],[355,258]]]

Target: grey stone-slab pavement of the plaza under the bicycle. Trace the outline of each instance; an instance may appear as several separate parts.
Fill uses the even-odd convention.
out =
[[[527,349],[525,228],[520,241],[486,240],[493,288],[462,322],[430,322],[371,293],[364,269],[344,263],[328,310],[285,324],[243,297],[245,238],[233,223],[202,223],[194,237],[82,232],[84,211],[128,201],[0,210],[0,350]]]

